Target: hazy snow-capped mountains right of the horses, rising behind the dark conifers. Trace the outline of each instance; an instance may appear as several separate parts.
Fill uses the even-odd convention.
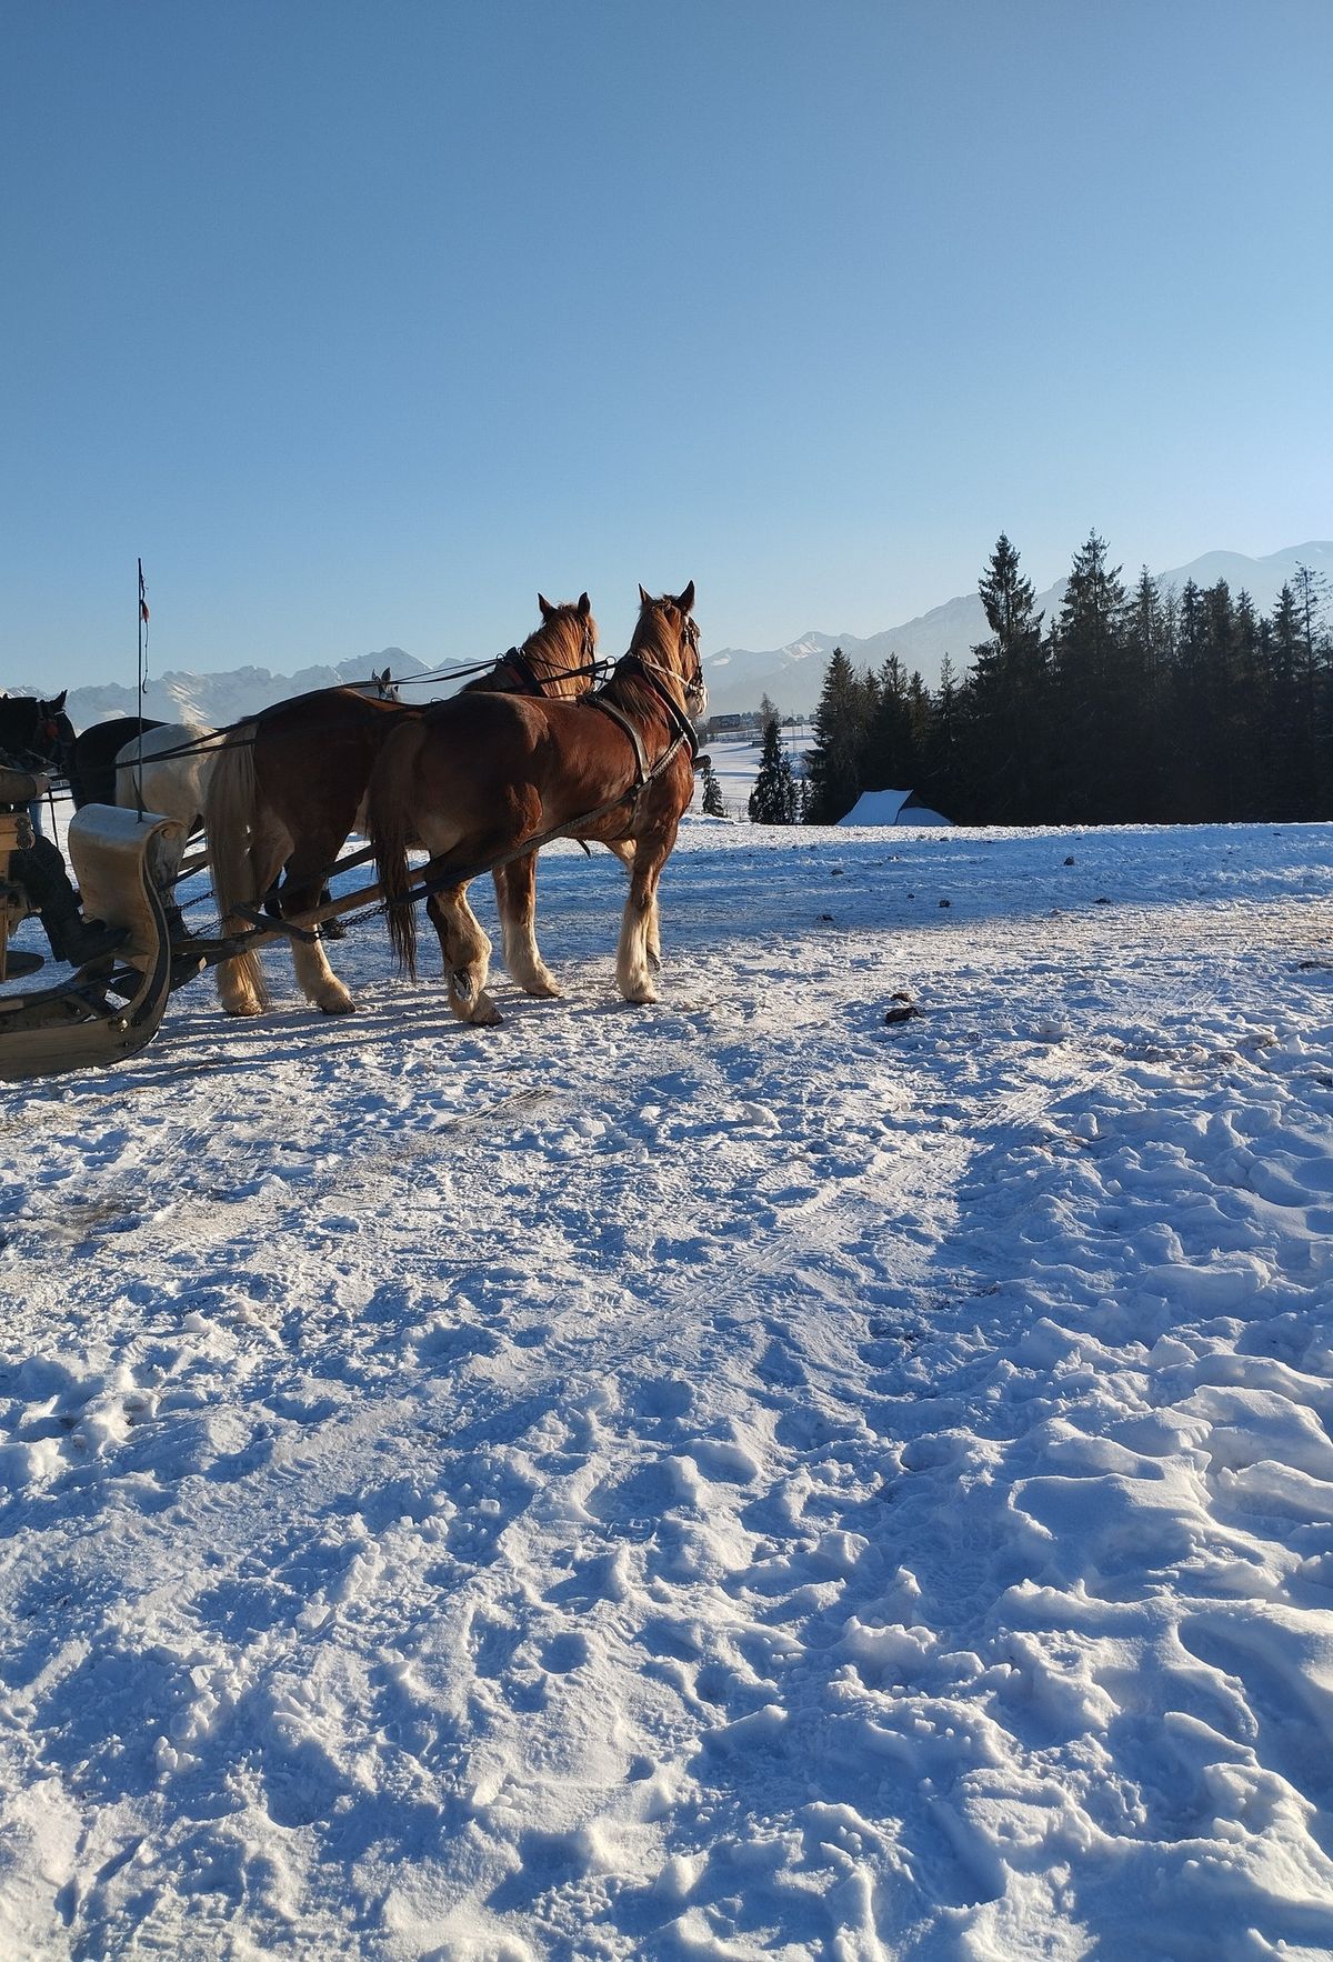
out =
[[[1296,581],[1298,565],[1308,565],[1315,573],[1333,575],[1333,543],[1288,545],[1262,559],[1251,559],[1241,551],[1208,551],[1190,565],[1178,565],[1160,573],[1164,585],[1176,589],[1194,579],[1200,587],[1213,587],[1225,579],[1233,593],[1245,589],[1257,606],[1268,608],[1284,585]],[[1125,567],[1125,577],[1137,577]],[[1064,579],[1037,594],[1037,606],[1051,618],[1064,598]],[[884,628],[861,640],[857,634],[802,634],[786,647],[770,647],[763,653],[747,647],[721,647],[704,657],[708,675],[710,706],[717,714],[759,708],[761,695],[768,695],[782,714],[810,714],[823,687],[823,669],[833,647],[857,667],[878,667],[896,653],[908,673],[919,671],[929,687],[939,683],[939,663],[951,655],[955,669],[963,671],[976,642],[986,640],[990,628],[976,593],[945,600],[929,612],[902,626]]]

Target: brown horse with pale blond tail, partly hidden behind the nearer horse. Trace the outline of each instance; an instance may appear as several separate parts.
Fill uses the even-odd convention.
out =
[[[592,687],[598,626],[584,593],[553,606],[537,594],[541,626],[504,653],[465,693],[500,691],[580,695]],[[384,744],[427,710],[369,700],[351,689],[323,689],[274,702],[239,724],[218,751],[204,804],[208,857],[223,932],[253,924],[255,908],[286,867],[278,893],[284,918],[314,908],[329,867],[349,834],[361,830],[370,769]],[[535,952],[535,950],[533,950]],[[355,1003],[329,967],[321,940],[292,940],[292,963],[306,997],[329,1014]],[[269,1005],[253,952],[218,967],[218,993],[229,1014],[259,1014]]]

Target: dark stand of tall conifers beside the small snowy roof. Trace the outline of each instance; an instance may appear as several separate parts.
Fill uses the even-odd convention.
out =
[[[833,651],[796,816],[833,824],[890,787],[959,824],[1333,816],[1333,638],[1315,573],[1302,567],[1260,616],[1225,581],[1176,593],[1143,571],[1125,589],[1094,532],[1045,622],[1002,536],[978,591],[990,640],[963,677],[945,659],[935,691],[896,655],[868,673]]]

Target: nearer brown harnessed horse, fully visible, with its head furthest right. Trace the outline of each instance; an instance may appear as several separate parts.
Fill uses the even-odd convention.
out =
[[[553,836],[600,840],[629,867],[616,979],[625,1001],[655,1001],[657,881],[694,791],[694,730],[708,693],[690,618],[694,581],[678,596],[651,598],[629,653],[606,687],[578,702],[500,695],[433,702],[396,728],[370,775],[367,816],[388,932],[400,963],[416,973],[416,912],[408,899],[408,848],[431,853],[427,912],[439,934],[449,1007],[465,1022],[498,1022],[486,993],[490,940],[467,903],[467,883],[504,859],[506,955],[531,938],[531,873]],[[457,883],[455,881],[457,875]],[[506,916],[514,891],[525,916]],[[535,952],[535,948],[533,948]]]

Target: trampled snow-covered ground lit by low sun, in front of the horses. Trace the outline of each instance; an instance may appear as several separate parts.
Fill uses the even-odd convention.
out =
[[[619,897],[6,1093],[0,1956],[1325,1956],[1333,828]]]

